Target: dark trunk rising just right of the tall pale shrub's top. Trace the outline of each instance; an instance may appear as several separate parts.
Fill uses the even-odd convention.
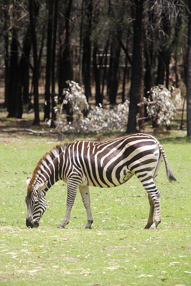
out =
[[[92,20],[92,0],[84,0],[86,18],[84,24],[84,40],[83,40],[83,57],[82,57],[82,74],[84,78],[85,95],[91,96],[91,20]]]

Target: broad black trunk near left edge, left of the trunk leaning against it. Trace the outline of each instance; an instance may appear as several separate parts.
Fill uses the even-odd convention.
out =
[[[12,28],[12,41],[10,53],[10,71],[9,71],[9,94],[8,94],[8,117],[15,116],[16,86],[18,75],[18,40],[15,27]]]

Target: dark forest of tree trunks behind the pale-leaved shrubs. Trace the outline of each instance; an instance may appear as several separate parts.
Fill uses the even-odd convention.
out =
[[[66,81],[74,80],[89,104],[112,108],[130,100],[126,132],[133,133],[144,129],[148,117],[144,104],[137,104],[152,86],[161,84],[168,90],[180,88],[191,137],[190,10],[187,0],[4,0],[0,4],[4,115],[22,118],[23,110],[34,112],[34,125],[51,118],[53,127],[55,97],[62,103]],[[70,104],[64,109],[67,121],[72,121]],[[137,120],[138,114],[142,120]]]

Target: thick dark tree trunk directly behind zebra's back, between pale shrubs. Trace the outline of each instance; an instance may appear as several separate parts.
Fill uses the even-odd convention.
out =
[[[141,82],[141,38],[142,38],[142,18],[143,18],[143,0],[135,0],[136,15],[135,24],[133,26],[133,59],[131,69],[131,88],[130,88],[130,104],[129,118],[127,124],[127,133],[136,132],[136,115],[138,95],[140,94]]]

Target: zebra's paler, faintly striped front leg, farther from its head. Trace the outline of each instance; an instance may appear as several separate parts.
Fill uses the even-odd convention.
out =
[[[81,193],[81,198],[82,198],[82,201],[86,209],[86,213],[87,213],[87,224],[85,228],[91,229],[91,225],[93,223],[93,217],[92,217],[91,208],[90,208],[89,186],[79,186],[79,191]]]

